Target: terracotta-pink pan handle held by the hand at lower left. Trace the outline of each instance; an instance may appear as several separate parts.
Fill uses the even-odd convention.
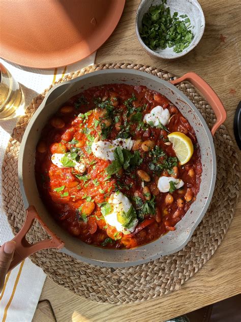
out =
[[[39,241],[36,244],[32,245],[29,244],[29,242],[27,242],[27,240],[25,239],[25,235],[34,224],[35,219],[37,219],[40,222],[42,228],[52,238]],[[32,255],[35,252],[44,250],[46,248],[62,249],[64,247],[64,242],[48,229],[48,227],[44,224],[44,222],[38,215],[34,206],[29,206],[27,208],[26,219],[23,224],[23,227],[21,228],[19,233],[13,238],[13,240],[16,241],[16,249],[9,270],[13,269],[23,259],[27,258],[29,255]]]

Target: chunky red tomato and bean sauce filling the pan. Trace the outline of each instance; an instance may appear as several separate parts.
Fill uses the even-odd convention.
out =
[[[170,112],[166,127],[143,122],[143,116],[157,105]],[[167,137],[176,131],[186,134],[194,145],[192,158],[185,165],[179,164]],[[135,140],[142,162],[109,176],[106,169],[111,161],[96,158],[91,146],[95,138],[117,137]],[[146,140],[155,142],[147,152],[141,147]],[[59,168],[53,164],[51,156],[55,153],[80,158],[83,173],[73,166]],[[145,182],[149,193],[143,192],[138,170],[150,177]],[[109,84],[72,97],[47,122],[36,149],[36,182],[50,215],[72,236],[111,249],[129,249],[175,230],[196,199],[201,173],[200,148],[190,123],[165,96],[145,86]],[[163,193],[157,187],[160,176],[179,178],[185,184]],[[101,212],[101,204],[116,190],[129,198],[137,212],[138,225],[128,235],[109,226]]]

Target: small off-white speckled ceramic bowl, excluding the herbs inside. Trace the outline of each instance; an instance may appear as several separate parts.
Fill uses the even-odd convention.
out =
[[[156,51],[153,51],[149,47],[147,47],[144,42],[141,39],[139,30],[141,28],[142,18],[143,15],[148,11],[148,9],[151,6],[157,6],[161,4],[161,0],[142,0],[137,12],[136,12],[136,35],[141,43],[141,45],[144,47],[146,52],[150,55],[153,55],[155,57],[163,58],[163,59],[175,59],[178,57],[182,57],[186,55],[187,53],[191,52],[191,50],[196,47],[196,45],[199,43],[200,39],[202,38],[204,28],[205,28],[205,18],[202,11],[201,6],[196,0],[167,0],[166,6],[170,7],[171,15],[173,15],[174,12],[178,12],[179,15],[185,15],[187,14],[191,25],[194,26],[192,29],[192,33],[194,34],[194,38],[190,45],[183,50],[182,53],[174,53],[173,47],[166,49],[156,49]]]

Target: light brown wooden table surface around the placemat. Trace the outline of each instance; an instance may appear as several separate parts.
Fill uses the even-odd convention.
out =
[[[140,0],[126,1],[117,28],[97,52],[96,63],[148,64],[179,76],[187,71],[197,72],[221,98],[228,113],[225,125],[234,140],[233,116],[241,96],[240,0],[200,0],[206,19],[204,35],[191,53],[173,61],[148,56],[138,43],[135,35],[135,12],[139,2]],[[239,153],[236,145],[235,147]],[[162,321],[221,301],[241,292],[240,227],[239,197],[234,219],[214,256],[179,291],[160,298],[119,306],[98,304],[79,298],[47,278],[41,299],[50,301],[58,322]],[[33,321],[43,321],[43,316],[45,313],[37,310]]]

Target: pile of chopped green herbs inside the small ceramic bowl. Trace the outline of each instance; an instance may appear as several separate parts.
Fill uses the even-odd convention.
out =
[[[175,53],[181,53],[194,38],[190,28],[192,26],[187,15],[174,12],[171,16],[170,8],[165,7],[166,0],[159,6],[151,6],[143,15],[140,36],[143,42],[154,51],[157,48],[173,47]]]

